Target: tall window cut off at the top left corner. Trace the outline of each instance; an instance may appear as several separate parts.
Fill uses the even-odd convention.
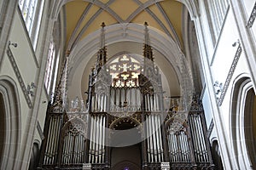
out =
[[[20,0],[19,8],[26,25],[26,30],[35,49],[42,19],[44,0]]]

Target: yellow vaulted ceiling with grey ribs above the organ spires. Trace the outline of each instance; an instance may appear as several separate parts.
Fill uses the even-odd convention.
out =
[[[183,48],[183,4],[176,0],[75,0],[65,5],[67,48],[100,28],[122,23],[143,24],[172,37]]]

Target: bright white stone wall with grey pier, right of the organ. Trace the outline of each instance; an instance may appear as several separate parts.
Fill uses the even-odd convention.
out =
[[[254,3],[255,1],[230,1],[230,8],[224,20],[220,37],[218,37],[216,46],[213,48],[211,46],[212,38],[209,36],[211,31],[209,31],[209,25],[206,20],[207,12],[202,2],[199,3],[201,15],[195,19],[201,59],[203,60],[203,71],[206,78],[206,88],[201,96],[206,113],[207,127],[209,128],[210,122],[213,119],[214,127],[210,135],[210,141],[218,139],[225,169],[248,168],[247,165],[240,165],[241,162],[234,154],[231,135],[233,131],[232,126],[234,125],[231,124],[230,119],[232,114],[232,94],[234,93],[232,90],[234,90],[237,77],[250,77],[253,84],[255,84],[255,77],[253,77],[252,73],[253,67],[256,67],[253,62],[255,55],[252,56],[254,53],[253,46],[255,44],[255,38],[253,36],[255,34],[255,24],[252,28],[246,28],[246,19],[252,13]],[[236,50],[239,47],[237,41],[241,45],[242,52],[237,63],[235,62],[236,69],[232,71],[231,68],[234,68],[233,62],[236,56]],[[234,44],[235,42],[236,44]],[[232,44],[234,44],[234,47]],[[216,94],[217,88],[213,86],[215,82],[218,82],[218,84],[222,83],[222,88],[225,82],[228,84],[221,105],[218,104],[217,98],[220,97],[222,91]],[[243,159],[247,159],[247,156],[242,157],[244,157]],[[244,162],[245,164],[248,163],[247,160]]]

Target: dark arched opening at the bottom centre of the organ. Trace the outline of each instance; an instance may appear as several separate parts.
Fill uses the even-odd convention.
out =
[[[141,139],[140,128],[131,119],[115,122],[111,135],[111,169],[131,170],[142,167],[142,143],[132,144],[132,139]],[[131,131],[130,131],[131,130]],[[125,133],[123,133],[125,132]],[[132,145],[129,145],[132,144]]]

